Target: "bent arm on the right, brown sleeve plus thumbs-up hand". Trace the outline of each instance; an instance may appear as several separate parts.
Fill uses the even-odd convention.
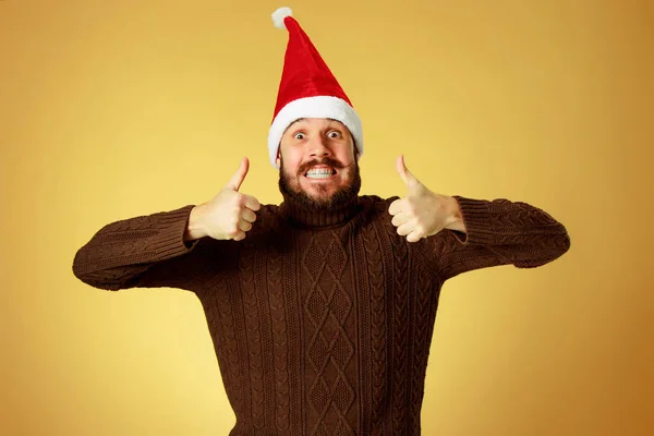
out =
[[[402,155],[396,167],[408,192],[390,198],[391,223],[408,242],[417,242],[416,249],[444,280],[491,266],[534,268],[570,249],[564,225],[537,207],[506,198],[437,194],[409,171]]]

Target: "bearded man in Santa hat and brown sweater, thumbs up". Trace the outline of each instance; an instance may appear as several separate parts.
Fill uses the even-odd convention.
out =
[[[402,156],[407,196],[359,196],[359,117],[290,10],[272,17],[289,31],[268,137],[281,205],[239,192],[244,158],[207,203],[105,226],[73,271],[100,289],[197,295],[231,435],[419,435],[444,282],[545,265],[569,235],[525,203],[436,194]]]

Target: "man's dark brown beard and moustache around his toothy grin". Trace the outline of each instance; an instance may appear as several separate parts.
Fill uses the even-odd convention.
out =
[[[298,174],[292,177],[283,170],[283,158],[280,156],[279,191],[294,204],[308,211],[330,211],[339,209],[356,198],[359,190],[361,190],[361,174],[359,172],[359,161],[356,158],[354,158],[354,162],[351,165],[353,166],[354,171],[351,174],[350,183],[346,186],[340,186],[330,196],[323,195],[327,193],[327,189],[318,185],[316,186],[318,195],[314,198],[310,196],[306,191],[302,190],[299,183],[295,183],[294,185],[293,182],[303,177],[304,173],[315,165],[328,165],[331,168],[339,170],[346,168],[346,166],[338,160],[326,157],[320,160],[314,159],[306,162],[306,165],[299,169]]]

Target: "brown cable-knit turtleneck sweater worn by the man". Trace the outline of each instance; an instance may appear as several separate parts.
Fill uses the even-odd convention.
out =
[[[388,214],[396,198],[326,215],[264,205],[240,242],[185,243],[192,205],[140,216],[100,229],[73,271],[99,289],[197,295],[237,415],[230,435],[420,435],[445,280],[545,265],[570,238],[529,204],[455,196],[467,233],[409,243]]]

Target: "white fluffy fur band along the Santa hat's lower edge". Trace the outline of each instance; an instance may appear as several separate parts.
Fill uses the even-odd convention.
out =
[[[363,129],[361,119],[342,98],[331,96],[304,97],[289,102],[281,108],[268,131],[268,155],[270,162],[277,168],[277,150],[283,132],[300,118],[330,118],[342,122],[350,130],[359,156],[363,155]]]

